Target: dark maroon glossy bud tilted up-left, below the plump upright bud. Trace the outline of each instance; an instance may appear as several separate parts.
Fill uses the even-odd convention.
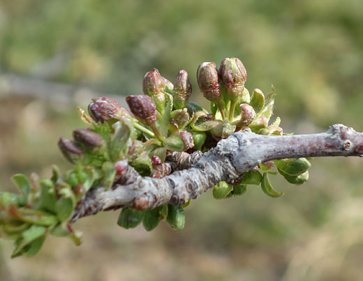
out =
[[[147,126],[153,125],[158,119],[154,100],[146,95],[127,96],[126,102],[133,115]]]

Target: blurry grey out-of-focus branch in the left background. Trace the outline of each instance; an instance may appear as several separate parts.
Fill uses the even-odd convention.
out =
[[[108,96],[125,105],[123,98],[112,93],[100,93],[85,86],[75,86],[15,74],[0,75],[0,98],[21,96],[40,98],[65,104],[80,104],[94,97]]]

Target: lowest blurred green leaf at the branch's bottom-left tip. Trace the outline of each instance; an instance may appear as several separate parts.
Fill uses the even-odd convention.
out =
[[[29,252],[29,257],[36,255],[45,239],[45,231],[45,227],[38,225],[32,225],[23,231],[22,237],[15,241],[15,250],[11,257],[19,257],[27,252]]]

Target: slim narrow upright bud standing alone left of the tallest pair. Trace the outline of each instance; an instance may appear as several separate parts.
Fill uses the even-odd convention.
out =
[[[191,96],[191,80],[184,69],[180,70],[177,74],[172,96],[174,98],[175,109],[184,108],[186,102],[188,102],[189,96]]]

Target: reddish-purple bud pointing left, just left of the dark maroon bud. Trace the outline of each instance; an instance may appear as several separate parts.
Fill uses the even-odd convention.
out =
[[[121,119],[122,117],[130,119],[131,115],[124,107],[121,107],[113,98],[93,98],[88,106],[89,115],[95,121],[109,121],[111,119]]]

